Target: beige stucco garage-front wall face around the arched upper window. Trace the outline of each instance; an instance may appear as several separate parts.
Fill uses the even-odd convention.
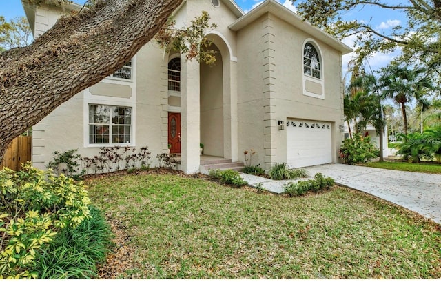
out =
[[[275,46],[275,112],[276,120],[286,121],[287,117],[330,121],[332,125],[333,161],[338,161],[337,150],[340,148],[342,133],[342,79],[341,54],[334,48],[311,38],[302,30],[294,28],[277,17],[274,22]],[[309,97],[302,90],[302,46],[307,39],[314,39],[321,50],[322,74],[325,99]],[[289,56],[288,54],[291,54]],[[287,152],[286,130],[278,130],[276,147],[278,152]],[[276,154],[275,162],[286,161],[286,154]]]

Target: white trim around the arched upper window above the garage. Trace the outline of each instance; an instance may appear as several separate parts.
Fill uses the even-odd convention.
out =
[[[305,52],[305,45],[306,43],[311,43],[312,46],[314,46],[314,48],[316,48],[317,52],[318,52],[318,57],[319,57],[319,62],[320,62],[320,79],[313,77],[312,75],[308,75],[305,74],[305,71],[303,70],[304,68],[304,52]],[[320,46],[318,45],[317,41],[315,41],[312,38],[307,38],[305,39],[305,41],[303,41],[302,44],[302,49],[301,49],[301,72],[302,72],[302,94],[305,96],[309,96],[309,97],[314,97],[314,98],[318,98],[318,99],[325,99],[325,62],[323,59],[323,52],[320,48]],[[306,90],[306,81],[311,81],[313,83],[318,83],[321,85],[322,87],[322,94],[316,94],[313,92],[309,92]]]

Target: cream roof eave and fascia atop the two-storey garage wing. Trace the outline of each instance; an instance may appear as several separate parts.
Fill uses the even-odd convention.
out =
[[[275,0],[265,0],[259,6],[234,21],[234,23],[229,25],[229,28],[233,31],[241,30],[268,12],[276,15],[276,17],[286,21],[287,23],[290,23],[292,26],[307,32],[307,34],[311,34],[311,36],[315,37],[316,39],[327,43],[332,48],[342,52],[342,54],[349,54],[353,51],[352,48],[347,46],[345,43],[342,43],[342,41],[332,37],[331,34],[321,30],[320,28],[312,26],[311,23],[303,21],[298,14],[292,12]]]

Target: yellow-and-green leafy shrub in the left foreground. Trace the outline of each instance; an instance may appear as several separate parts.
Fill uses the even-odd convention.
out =
[[[83,183],[23,165],[0,170],[0,279],[37,278],[35,257],[63,228],[90,218]]]

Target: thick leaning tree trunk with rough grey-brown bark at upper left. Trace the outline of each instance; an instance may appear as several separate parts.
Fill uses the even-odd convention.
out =
[[[0,160],[14,137],[123,66],[183,0],[105,0],[0,54]]]

